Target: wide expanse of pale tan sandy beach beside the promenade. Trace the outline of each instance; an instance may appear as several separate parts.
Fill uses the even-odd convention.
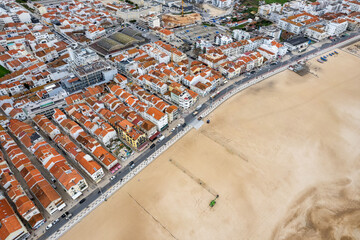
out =
[[[231,98],[62,239],[360,239],[360,58],[338,52]]]

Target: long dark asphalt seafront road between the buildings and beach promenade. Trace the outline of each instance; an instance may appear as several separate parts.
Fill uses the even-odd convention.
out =
[[[274,70],[276,70],[277,68],[280,68],[283,65],[286,64],[290,64],[290,63],[296,63],[297,61],[306,58],[307,56],[310,56],[312,54],[317,53],[318,51],[324,50],[328,47],[331,47],[337,43],[340,43],[342,41],[348,40],[354,36],[358,35],[358,33],[352,33],[347,37],[343,37],[341,39],[339,39],[336,42],[332,42],[332,43],[325,43],[323,44],[321,47],[317,48],[317,49],[313,49],[311,51],[305,52],[301,55],[293,55],[289,60],[286,60],[284,62],[281,62],[277,65],[269,65],[267,67],[264,67],[260,70],[258,70],[256,73],[251,74],[250,76],[246,76],[245,78],[241,79],[241,80],[236,80],[234,81],[233,84],[227,86],[226,88],[222,89],[219,94],[215,97],[215,99],[211,100],[210,98],[202,104],[202,107],[196,111],[201,112],[203,110],[205,110],[206,108],[208,108],[212,101],[224,96],[228,91],[232,90],[233,88],[244,84],[246,82],[249,82],[252,79],[255,79],[259,76],[261,76],[264,73],[268,73],[268,72],[272,72]],[[189,124],[191,121],[193,121],[196,117],[194,117],[192,115],[193,112],[189,113],[187,116],[185,116],[185,123]],[[181,131],[183,130],[183,126],[180,126],[177,128],[176,131],[172,132],[170,135],[168,135],[162,142],[157,143],[156,147],[152,148],[152,149],[147,149],[145,152],[143,152],[138,158],[136,158],[134,160],[135,166],[138,166],[140,163],[142,163],[145,159],[147,159],[152,153],[154,153],[157,149],[159,149],[161,146],[165,145],[173,136],[176,135],[177,131]],[[101,188],[101,191],[99,190],[95,190],[94,192],[92,192],[90,195],[88,195],[88,197],[86,197],[86,201],[83,204],[76,204],[71,210],[69,210],[70,213],[73,214],[73,216],[75,216],[76,214],[78,214],[79,212],[81,212],[84,208],[86,208],[90,203],[92,203],[93,201],[95,201],[99,195],[102,192],[105,192],[106,190],[108,190],[109,188],[111,188],[115,183],[117,183],[118,181],[121,181],[122,178],[124,178],[124,176],[126,174],[128,174],[131,171],[130,167],[127,165],[125,166],[121,171],[119,171],[115,176],[116,178],[113,181],[110,181],[107,185],[105,185],[103,188]],[[60,221],[53,226],[51,229],[49,229],[48,231],[46,231],[39,239],[47,239],[49,236],[51,236],[54,232],[58,231],[58,229],[63,226],[65,223],[67,222],[66,219],[60,219]]]

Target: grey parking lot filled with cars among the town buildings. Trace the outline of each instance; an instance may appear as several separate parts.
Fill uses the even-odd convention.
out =
[[[217,27],[205,25],[195,25],[175,30],[175,35],[189,44],[194,44],[198,39],[214,42],[217,34],[225,34],[225,32]]]

